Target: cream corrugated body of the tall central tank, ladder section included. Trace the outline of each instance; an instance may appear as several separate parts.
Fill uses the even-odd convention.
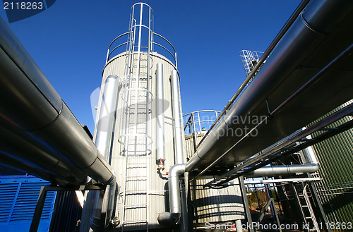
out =
[[[116,171],[116,181],[119,184],[116,215],[119,215],[121,224],[124,224],[124,231],[144,229],[145,220],[148,221],[150,229],[161,228],[162,226],[157,221],[157,215],[167,211],[166,202],[168,200],[167,175],[163,173],[169,171],[169,168],[175,164],[170,76],[172,71],[177,68],[172,61],[161,54],[141,53],[140,81],[138,89],[136,89],[136,77],[130,77],[131,74],[126,68],[128,56],[130,55],[124,52],[110,59],[104,67],[102,78],[102,88],[104,88],[105,79],[109,75],[117,75],[123,80],[116,107],[111,160],[111,165]],[[134,54],[133,59],[138,59],[138,54]],[[155,99],[157,63],[162,63],[163,66],[164,99],[162,104],[164,105],[165,170],[162,172],[157,171],[157,144],[155,140],[157,126],[160,123],[157,121],[155,109],[158,104]],[[148,77],[144,74],[147,68],[150,73]],[[138,100],[136,100],[136,91],[138,92]],[[132,101],[132,103],[129,104],[128,101]],[[158,101],[161,100],[158,99]],[[98,109],[100,108],[99,105]],[[136,111],[137,118],[135,118]],[[126,159],[128,160],[126,161]],[[148,191],[148,194],[145,194],[145,190]],[[133,191],[136,193],[132,193]]]

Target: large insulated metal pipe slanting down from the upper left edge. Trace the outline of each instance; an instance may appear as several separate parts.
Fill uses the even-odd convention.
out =
[[[112,168],[4,20],[0,31],[0,117],[76,171],[98,183],[112,183]],[[42,159],[40,154],[36,158]]]

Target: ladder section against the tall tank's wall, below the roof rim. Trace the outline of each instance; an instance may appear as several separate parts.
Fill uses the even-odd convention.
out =
[[[146,58],[147,57],[147,58]],[[130,84],[126,89],[126,128],[124,155],[126,171],[123,193],[121,231],[148,231],[148,55],[132,57]]]

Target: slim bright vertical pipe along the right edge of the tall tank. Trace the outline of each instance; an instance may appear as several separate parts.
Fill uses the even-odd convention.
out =
[[[184,164],[183,123],[181,118],[179,77],[176,70],[172,71],[172,107],[174,116],[174,141],[177,164]]]

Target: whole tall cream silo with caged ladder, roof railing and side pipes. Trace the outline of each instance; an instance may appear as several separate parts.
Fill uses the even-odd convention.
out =
[[[94,133],[119,185],[108,202],[121,231],[166,227],[157,216],[169,208],[169,168],[186,162],[182,125],[177,53],[153,32],[152,8],[135,4],[128,32],[107,51]]]

